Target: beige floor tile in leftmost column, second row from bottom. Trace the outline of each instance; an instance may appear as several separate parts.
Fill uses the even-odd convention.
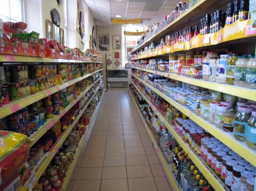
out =
[[[79,168],[77,180],[100,180],[102,167]]]

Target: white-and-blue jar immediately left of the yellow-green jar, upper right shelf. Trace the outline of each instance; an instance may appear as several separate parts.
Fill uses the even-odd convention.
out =
[[[227,54],[220,55],[220,60],[217,65],[218,76],[216,78],[216,82],[226,84],[226,68],[227,68],[227,58],[229,56]]]

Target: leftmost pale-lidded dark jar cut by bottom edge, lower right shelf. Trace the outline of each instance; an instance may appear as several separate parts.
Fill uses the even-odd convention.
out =
[[[240,191],[241,172],[245,171],[245,167],[241,165],[234,165],[232,171],[231,190]]]

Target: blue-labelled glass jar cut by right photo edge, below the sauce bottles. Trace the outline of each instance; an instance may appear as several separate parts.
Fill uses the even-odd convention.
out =
[[[245,87],[250,89],[256,89],[256,57],[249,56],[249,60],[246,63],[246,76]]]

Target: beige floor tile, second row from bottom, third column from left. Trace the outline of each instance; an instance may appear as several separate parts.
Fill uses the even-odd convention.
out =
[[[149,165],[127,166],[128,178],[152,177]]]

